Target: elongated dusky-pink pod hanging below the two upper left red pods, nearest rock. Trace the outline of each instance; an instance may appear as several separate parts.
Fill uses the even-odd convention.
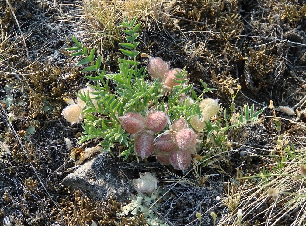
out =
[[[154,136],[148,132],[142,132],[135,137],[134,146],[137,155],[144,159],[154,152]]]

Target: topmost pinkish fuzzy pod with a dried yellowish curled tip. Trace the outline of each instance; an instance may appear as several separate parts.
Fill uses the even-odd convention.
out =
[[[170,70],[169,64],[163,61],[161,58],[149,57],[148,72],[153,79],[159,78],[163,80],[165,74]]]

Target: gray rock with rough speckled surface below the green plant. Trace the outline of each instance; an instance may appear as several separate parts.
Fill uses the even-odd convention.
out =
[[[114,158],[108,152],[98,154],[75,172],[67,175],[64,186],[82,191],[93,200],[108,200],[111,195],[114,199],[123,203],[129,199],[135,189],[132,179],[132,171],[119,168],[118,158]],[[125,176],[126,175],[126,176]],[[131,182],[130,182],[131,181]]]

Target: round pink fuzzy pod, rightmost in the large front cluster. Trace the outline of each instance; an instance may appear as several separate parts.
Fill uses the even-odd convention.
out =
[[[192,129],[182,129],[174,136],[175,143],[182,150],[187,150],[196,145],[196,133]]]

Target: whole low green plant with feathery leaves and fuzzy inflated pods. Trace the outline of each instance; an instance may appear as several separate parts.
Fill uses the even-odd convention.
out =
[[[233,102],[236,93],[231,95],[230,115],[224,110],[224,119],[216,119],[218,100],[202,99],[214,88],[208,88],[200,80],[203,91],[197,96],[192,88],[194,84],[187,83],[185,68],[170,69],[162,59],[142,54],[150,61],[148,71],[153,80],[147,79],[147,68],[139,67],[137,61],[140,53],[136,50],[140,44],[137,41],[139,27],[136,17],[131,22],[125,18],[120,23],[119,28],[123,28],[127,42],[119,43],[125,47],[120,49],[125,58],[118,59],[118,73],[106,74],[105,68],[100,70],[102,57],[95,55],[95,49],[88,54],[87,47],[74,37],[77,47],[66,49],[77,51],[72,56],[83,57],[77,65],[88,64],[81,72],[91,72],[92,75],[84,77],[95,81],[95,85],[89,84],[92,90],[88,88],[87,93],[80,91],[77,94],[77,104],[86,103],[86,106],[78,104],[78,110],[82,108],[82,111],[78,112],[79,117],[73,116],[76,120],[83,119],[84,132],[79,143],[94,139],[100,142],[103,151],[112,155],[112,148],[118,146],[123,160],[135,153],[137,158],[140,156],[142,159],[155,154],[158,161],[181,170],[188,168],[192,154],[196,154],[199,147],[204,146],[208,150],[219,147],[216,150],[220,153],[228,150],[227,131],[258,121],[262,110],[255,113],[254,106],[249,109],[246,105],[241,113],[236,113]],[[113,90],[110,90],[109,84],[112,84]],[[72,100],[69,104],[77,105]],[[206,138],[204,144],[203,133]]]

